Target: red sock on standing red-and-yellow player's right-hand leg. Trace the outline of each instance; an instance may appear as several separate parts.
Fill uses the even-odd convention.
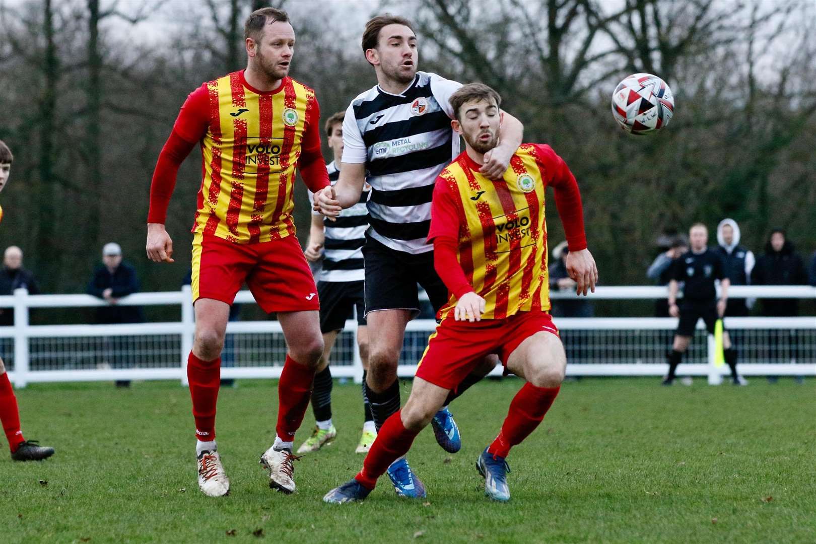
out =
[[[295,432],[304,420],[312,398],[314,369],[286,355],[281,379],[277,383],[277,436],[285,442],[295,440]]]

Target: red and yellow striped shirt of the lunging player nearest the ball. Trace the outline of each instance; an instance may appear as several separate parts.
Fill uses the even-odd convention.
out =
[[[486,301],[482,319],[547,311],[544,190],[548,184],[569,185],[577,195],[580,217],[574,177],[552,148],[540,144],[522,144],[501,181],[481,175],[480,167],[463,152],[442,170],[434,188],[428,240],[456,240],[459,265],[472,290]],[[583,237],[583,219],[579,228]],[[451,293],[438,315],[452,316],[456,302]]]

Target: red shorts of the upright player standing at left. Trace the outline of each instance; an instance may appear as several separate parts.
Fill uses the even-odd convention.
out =
[[[264,312],[320,309],[314,277],[296,237],[236,244],[196,232],[193,303],[215,299],[232,304],[244,281]]]

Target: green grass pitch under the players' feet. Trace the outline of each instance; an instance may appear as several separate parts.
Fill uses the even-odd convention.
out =
[[[351,478],[359,387],[336,385],[339,436],[297,463],[298,493],[268,489],[258,464],[273,440],[277,383],[220,393],[227,498],[197,489],[188,391],[177,383],[33,385],[17,391],[46,462],[0,460],[2,542],[814,542],[814,381],[665,388],[656,378],[566,383],[543,424],[513,450],[511,502],[483,496],[473,467],[495,436],[514,379],[484,382],[452,411],[463,449],[426,430],[409,454],[426,501],[387,479],[366,502],[330,506]],[[407,396],[406,383],[403,400]],[[298,440],[313,424],[307,415]],[[46,482],[47,484],[42,484]],[[227,536],[235,530],[236,536]],[[253,531],[263,529],[261,537]],[[90,539],[90,541],[86,541]]]

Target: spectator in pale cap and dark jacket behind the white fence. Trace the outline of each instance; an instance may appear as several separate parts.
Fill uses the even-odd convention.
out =
[[[121,306],[119,299],[139,291],[139,280],[131,265],[122,262],[122,248],[114,242],[102,249],[104,264],[97,267],[88,284],[88,294],[104,299],[107,306],[96,308],[96,322],[100,324],[141,323],[144,321],[142,309],[138,306]],[[135,343],[132,338],[113,337],[105,341],[105,351],[109,352],[114,369],[133,368],[135,363]],[[130,380],[117,380],[116,387],[130,387]]]

